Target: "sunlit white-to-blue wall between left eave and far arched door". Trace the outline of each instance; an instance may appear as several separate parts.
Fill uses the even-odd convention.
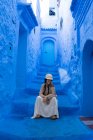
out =
[[[28,36],[28,47],[27,47],[27,87],[30,87],[33,78],[36,76],[37,69],[40,60],[40,30],[41,30],[41,20],[40,20],[40,3],[37,0],[34,4],[36,8],[35,16],[38,22],[38,26],[32,29]],[[33,8],[33,6],[32,6]]]

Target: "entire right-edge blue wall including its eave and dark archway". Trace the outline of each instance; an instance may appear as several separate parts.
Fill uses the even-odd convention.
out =
[[[93,48],[93,1],[72,1],[72,15],[75,19],[76,41],[74,54],[76,55],[77,83],[76,92],[81,103],[81,115],[93,116],[91,108],[93,98],[92,88],[92,48]],[[74,60],[75,60],[74,59]]]

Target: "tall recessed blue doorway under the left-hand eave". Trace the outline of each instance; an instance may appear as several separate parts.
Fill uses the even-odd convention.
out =
[[[26,50],[27,50],[27,30],[20,23],[19,40],[17,51],[17,68],[16,68],[16,87],[25,88],[26,86]]]

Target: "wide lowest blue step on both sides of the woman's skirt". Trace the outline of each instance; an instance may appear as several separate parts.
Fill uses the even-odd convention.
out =
[[[30,117],[34,112],[36,96],[29,96],[28,98],[19,98],[12,101],[11,113],[16,116]],[[58,110],[60,115],[76,114],[79,110],[78,105],[71,104],[66,95],[58,96]]]

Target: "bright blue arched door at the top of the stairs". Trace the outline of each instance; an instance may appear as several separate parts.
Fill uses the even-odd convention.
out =
[[[55,64],[55,44],[54,41],[47,39],[43,42],[42,47],[42,64],[54,65]]]

